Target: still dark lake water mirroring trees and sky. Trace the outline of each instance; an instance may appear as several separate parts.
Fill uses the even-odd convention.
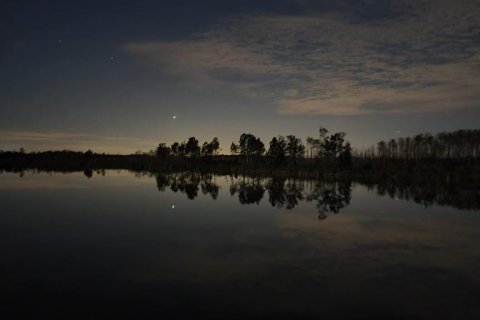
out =
[[[3,173],[0,317],[480,319],[468,192]]]

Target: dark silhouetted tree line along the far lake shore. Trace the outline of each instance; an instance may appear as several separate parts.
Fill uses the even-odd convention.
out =
[[[320,127],[316,137],[305,143],[295,135],[273,137],[265,144],[251,133],[240,135],[230,145],[230,155],[222,154],[217,137],[200,144],[190,137],[171,145],[160,143],[150,152],[130,155],[95,153],[91,150],[26,152],[1,151],[0,172],[84,171],[127,169],[132,171],[174,172],[193,170],[216,174],[248,173],[268,176],[315,177],[325,174],[357,177],[391,175],[445,175],[480,181],[480,130],[442,132],[435,136],[380,141],[376,148],[352,151],[344,132]]]

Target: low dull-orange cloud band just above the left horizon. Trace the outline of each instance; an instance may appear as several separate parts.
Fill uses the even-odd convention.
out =
[[[0,143],[22,145],[27,150],[102,148],[102,151],[132,153],[139,148],[151,148],[154,141],[141,138],[102,136],[69,132],[0,131]],[[147,150],[148,150],[147,149]]]

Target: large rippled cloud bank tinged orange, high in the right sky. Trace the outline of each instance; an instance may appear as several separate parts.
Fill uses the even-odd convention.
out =
[[[302,3],[308,8],[310,1]],[[351,12],[339,6],[328,14],[231,18],[188,40],[129,43],[126,50],[171,73],[270,97],[287,114],[477,106],[475,1],[388,3],[362,1]],[[371,14],[365,18],[366,13]]]

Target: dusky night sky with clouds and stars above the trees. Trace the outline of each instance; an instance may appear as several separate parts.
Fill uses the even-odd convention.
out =
[[[2,0],[0,33],[3,150],[480,127],[478,0]]]

